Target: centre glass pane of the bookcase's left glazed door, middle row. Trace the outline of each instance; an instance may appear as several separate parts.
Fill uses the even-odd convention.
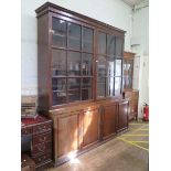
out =
[[[68,75],[81,75],[81,53],[67,52]]]

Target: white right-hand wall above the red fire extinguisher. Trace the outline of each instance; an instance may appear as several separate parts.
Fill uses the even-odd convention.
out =
[[[131,50],[136,52],[133,88],[139,89],[139,117],[143,103],[149,104],[149,7],[133,12]]]

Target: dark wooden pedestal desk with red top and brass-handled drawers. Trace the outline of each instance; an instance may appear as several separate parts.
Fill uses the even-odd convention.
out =
[[[52,120],[43,116],[23,118],[21,136],[31,135],[31,159],[36,170],[52,167]]]

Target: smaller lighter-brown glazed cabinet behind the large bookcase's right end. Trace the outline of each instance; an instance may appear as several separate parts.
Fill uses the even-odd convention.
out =
[[[132,88],[135,53],[124,52],[124,92],[130,99],[129,120],[138,119],[139,90]]]

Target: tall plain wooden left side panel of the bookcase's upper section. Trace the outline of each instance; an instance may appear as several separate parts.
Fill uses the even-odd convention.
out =
[[[43,35],[43,36],[42,36]],[[49,53],[49,15],[38,19],[38,82],[39,108],[47,110],[50,107],[50,53]]]

